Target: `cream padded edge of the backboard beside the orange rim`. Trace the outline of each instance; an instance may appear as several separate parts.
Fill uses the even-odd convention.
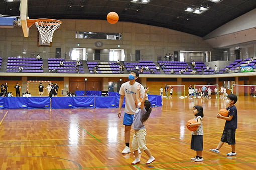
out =
[[[20,3],[20,19],[24,37],[29,37],[29,28],[27,25],[28,0],[21,0]]]

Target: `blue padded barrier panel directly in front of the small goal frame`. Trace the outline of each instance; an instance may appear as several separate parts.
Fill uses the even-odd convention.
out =
[[[50,108],[50,97],[28,97],[28,109]]]

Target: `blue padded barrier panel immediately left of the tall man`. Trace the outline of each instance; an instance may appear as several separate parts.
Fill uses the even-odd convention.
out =
[[[116,108],[115,104],[116,97],[95,97],[95,108]]]

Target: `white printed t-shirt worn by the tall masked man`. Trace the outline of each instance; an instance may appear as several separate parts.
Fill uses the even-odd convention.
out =
[[[136,82],[131,85],[129,84],[130,81],[127,81],[121,85],[119,94],[125,96],[125,109],[124,112],[127,114],[134,114],[136,109],[135,101],[136,101],[136,92],[137,92],[137,85],[140,84]],[[140,84],[141,85],[141,84]],[[141,85],[140,95],[145,93],[144,87]]]

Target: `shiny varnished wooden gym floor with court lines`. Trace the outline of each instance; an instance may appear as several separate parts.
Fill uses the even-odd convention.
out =
[[[256,97],[238,96],[237,156],[227,157],[226,143],[219,154],[209,151],[221,138],[225,120],[216,113],[225,100],[163,98],[146,123],[147,146],[156,158],[149,165],[145,153],[137,165],[131,165],[133,153],[121,154],[124,126],[117,108],[0,110],[0,169],[256,169],[255,103]],[[204,108],[203,162],[190,160],[195,151],[185,123],[194,105]]]

